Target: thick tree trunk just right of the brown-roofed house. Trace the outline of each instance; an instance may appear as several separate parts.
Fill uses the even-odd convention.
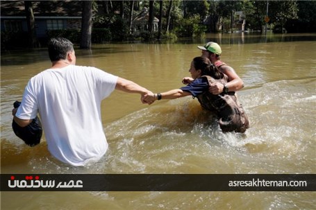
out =
[[[83,1],[83,11],[81,20],[81,49],[91,48],[92,33],[92,1]]]

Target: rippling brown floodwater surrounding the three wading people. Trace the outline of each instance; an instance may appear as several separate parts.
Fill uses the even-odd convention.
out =
[[[143,105],[114,91],[101,105],[109,150],[97,164],[67,166],[15,137],[11,110],[47,49],[1,54],[1,173],[316,173],[316,34],[208,35],[175,43],[94,44],[77,64],[133,80],[153,92],[182,87],[197,45],[215,41],[244,81],[238,91],[251,121],[223,134],[192,97]],[[315,192],[1,192],[1,209],[315,209]]]

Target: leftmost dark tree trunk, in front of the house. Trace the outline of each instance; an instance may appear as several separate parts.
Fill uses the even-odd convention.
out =
[[[35,48],[38,47],[38,40],[36,39],[32,1],[24,1],[24,6],[26,11],[26,22],[28,26],[28,46]]]

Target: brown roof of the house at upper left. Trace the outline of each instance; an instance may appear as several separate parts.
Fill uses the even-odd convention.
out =
[[[82,1],[31,1],[35,17],[81,17]],[[1,1],[1,16],[26,16],[24,1]]]

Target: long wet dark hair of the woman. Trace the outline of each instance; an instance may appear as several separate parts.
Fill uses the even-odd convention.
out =
[[[215,79],[220,79],[224,77],[224,74],[215,67],[214,64],[206,57],[196,57],[193,59],[193,64],[195,69],[201,70],[201,76],[207,75]]]

